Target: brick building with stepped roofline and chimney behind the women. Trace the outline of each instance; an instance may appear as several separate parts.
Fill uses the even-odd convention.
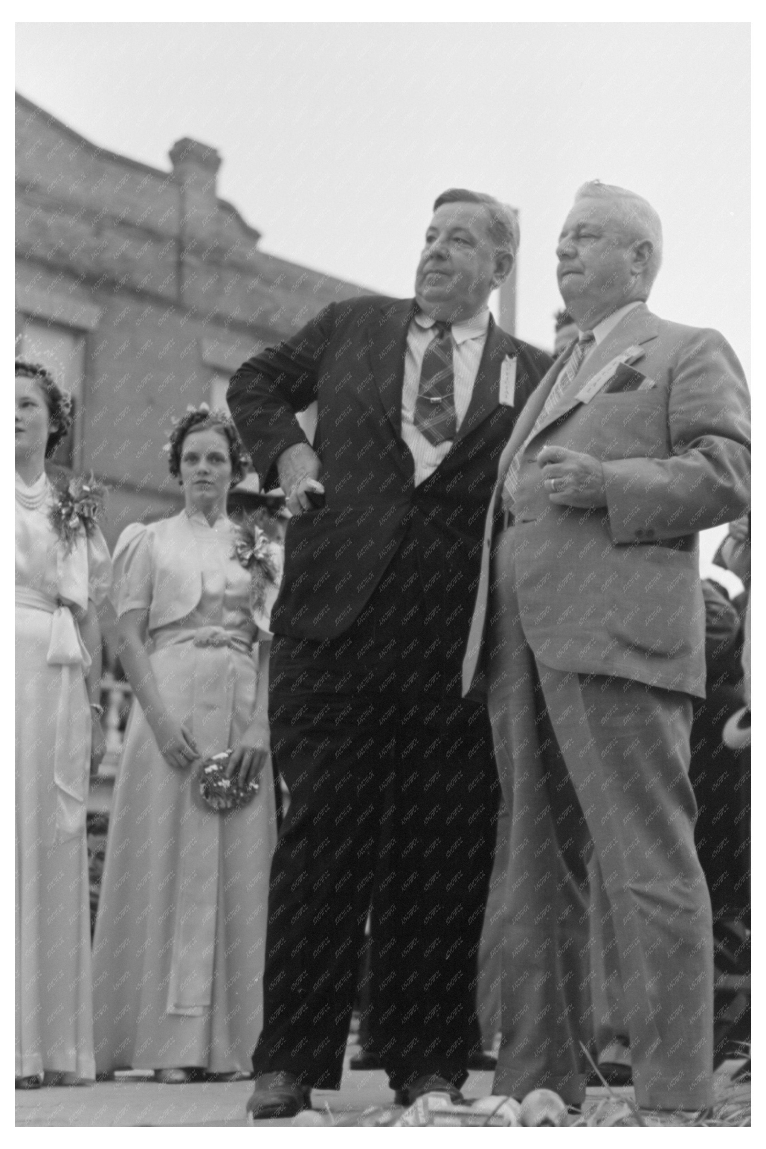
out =
[[[262,252],[216,195],[214,147],[180,139],[169,154],[161,171],[108,152],[16,95],[16,353],[75,396],[55,461],[109,485],[110,546],[181,504],[162,450],[171,416],[219,406],[257,348],[363,292]]]

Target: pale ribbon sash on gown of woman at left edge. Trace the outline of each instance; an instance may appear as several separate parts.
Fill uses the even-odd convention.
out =
[[[45,841],[51,847],[76,838],[85,825],[90,746],[84,754],[82,741],[75,737],[76,728],[70,714],[70,676],[73,666],[80,668],[79,673],[85,674],[91,666],[91,656],[80,638],[77,619],[65,603],[24,586],[15,587],[14,597],[17,607],[44,610],[53,616],[46,662],[49,666],[61,669],[53,757],[56,818],[54,826],[47,831]]]

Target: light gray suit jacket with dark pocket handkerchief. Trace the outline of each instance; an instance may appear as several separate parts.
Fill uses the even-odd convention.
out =
[[[505,475],[572,347],[527,400],[500,458],[464,694],[487,688],[492,540]],[[637,372],[633,386],[645,377],[643,386],[610,393],[618,384],[613,364],[595,395],[578,398],[618,357]],[[527,642],[556,670],[617,674],[704,697],[698,532],[737,518],[750,504],[750,395],[742,367],[717,331],[668,323],[641,304],[596,347],[577,384],[578,394],[550,412],[520,461],[513,552]],[[606,507],[549,501],[536,463],[546,445],[602,461]]]

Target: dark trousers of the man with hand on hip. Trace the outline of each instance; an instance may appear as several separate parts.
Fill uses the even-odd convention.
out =
[[[340,1087],[372,902],[376,1043],[392,1085],[465,1080],[500,787],[485,708],[461,700],[465,624],[443,600],[426,608],[428,579],[433,594],[440,570],[405,540],[348,632],[274,638],[269,718],[291,804],[256,1074]]]

